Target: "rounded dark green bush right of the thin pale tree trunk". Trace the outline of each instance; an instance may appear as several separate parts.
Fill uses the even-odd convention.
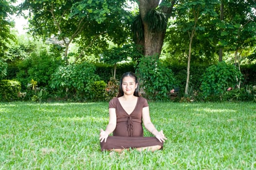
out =
[[[229,87],[235,88],[241,77],[242,74],[234,65],[219,62],[217,66],[210,66],[206,69],[202,78],[201,90],[203,97],[221,96]]]

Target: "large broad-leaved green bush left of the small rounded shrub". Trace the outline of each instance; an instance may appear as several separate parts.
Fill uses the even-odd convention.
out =
[[[75,101],[92,99],[91,85],[99,80],[95,74],[95,66],[89,63],[61,66],[53,74],[51,88],[59,91],[66,98]],[[59,96],[59,97],[63,97]]]

